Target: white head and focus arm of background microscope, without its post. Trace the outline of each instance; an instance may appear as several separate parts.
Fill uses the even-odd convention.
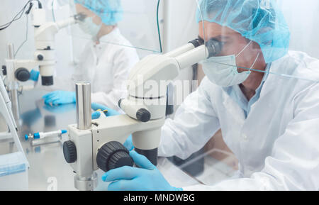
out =
[[[14,80],[25,82],[30,77],[30,70],[39,66],[42,84],[50,86],[53,84],[55,67],[55,35],[62,28],[83,21],[85,16],[76,15],[64,21],[46,22],[44,9],[33,10],[33,26],[35,28],[35,53],[34,60],[6,60],[6,76],[9,82]]]

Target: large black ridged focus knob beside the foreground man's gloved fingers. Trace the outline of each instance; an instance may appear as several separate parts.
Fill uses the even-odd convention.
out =
[[[117,141],[105,143],[99,148],[96,163],[104,172],[123,166],[133,167],[133,159],[130,157],[128,149]]]

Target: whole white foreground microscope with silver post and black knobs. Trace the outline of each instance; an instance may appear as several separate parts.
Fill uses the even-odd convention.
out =
[[[192,40],[164,55],[149,55],[130,72],[128,96],[118,101],[126,113],[91,121],[91,91],[88,82],[76,84],[77,124],[68,126],[69,140],[63,144],[65,160],[74,170],[74,186],[94,190],[96,170],[104,172],[133,166],[129,151],[123,146],[132,134],[135,151],[157,165],[157,148],[167,106],[167,84],[179,70],[220,54],[217,40]],[[157,86],[150,86],[150,84]],[[158,86],[164,84],[162,86]]]

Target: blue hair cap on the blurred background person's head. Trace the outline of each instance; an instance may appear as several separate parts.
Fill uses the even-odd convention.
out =
[[[106,25],[116,25],[123,18],[123,9],[120,0],[74,0],[87,9],[96,13]]]

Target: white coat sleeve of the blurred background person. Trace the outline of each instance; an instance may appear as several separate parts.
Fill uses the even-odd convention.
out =
[[[138,54],[135,49],[124,48],[116,53],[113,62],[113,87],[111,92],[96,92],[91,94],[91,100],[97,104],[103,104],[110,109],[121,111],[118,101],[126,96],[125,80],[134,65],[138,62]]]

